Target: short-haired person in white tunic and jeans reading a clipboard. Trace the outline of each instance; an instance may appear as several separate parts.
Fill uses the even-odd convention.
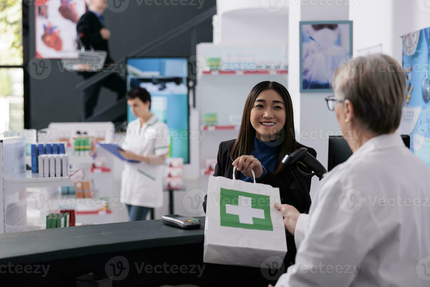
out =
[[[127,103],[137,117],[127,125],[126,139],[118,152],[126,160],[121,177],[121,202],[130,221],[145,220],[152,207],[163,206],[163,178],[169,153],[168,128],[151,113],[151,95],[134,87]]]

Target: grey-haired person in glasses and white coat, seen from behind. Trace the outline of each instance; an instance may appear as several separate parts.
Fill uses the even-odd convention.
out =
[[[429,286],[430,209],[375,201],[429,196],[429,167],[396,133],[405,85],[396,60],[380,54],[335,74],[327,102],[342,133],[358,135],[346,139],[353,155],[323,179],[309,215],[276,204],[298,246],[276,287]]]

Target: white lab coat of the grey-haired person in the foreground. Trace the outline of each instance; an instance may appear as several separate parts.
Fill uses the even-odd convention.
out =
[[[430,286],[429,191],[429,167],[399,135],[365,142],[299,216],[296,263],[276,287]]]

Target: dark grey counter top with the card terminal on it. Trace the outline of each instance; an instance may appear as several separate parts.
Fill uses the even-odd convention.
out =
[[[182,244],[203,244],[198,229],[183,230],[161,219],[83,225],[0,235],[0,264],[28,264],[92,254]]]

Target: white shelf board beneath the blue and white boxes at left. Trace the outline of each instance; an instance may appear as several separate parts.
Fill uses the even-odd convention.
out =
[[[26,187],[60,187],[73,186],[75,182],[84,176],[83,170],[72,170],[69,176],[61,177],[39,177],[39,173],[31,173],[27,170],[25,173],[18,173],[14,176],[5,176],[5,190],[9,187],[26,188]]]

